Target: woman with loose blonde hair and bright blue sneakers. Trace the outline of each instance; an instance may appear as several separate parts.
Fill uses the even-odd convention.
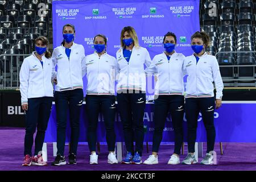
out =
[[[133,27],[121,31],[121,48],[117,51],[119,76],[117,102],[127,149],[122,163],[141,164],[144,131],[143,117],[146,106],[146,75],[144,65],[151,64],[146,48],[140,47]],[[133,142],[135,140],[135,150]]]

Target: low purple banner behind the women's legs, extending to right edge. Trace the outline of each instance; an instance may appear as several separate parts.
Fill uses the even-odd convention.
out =
[[[216,142],[256,142],[256,115],[252,114],[256,110],[256,103],[247,104],[222,104],[221,108],[214,111],[214,125],[216,127]],[[56,113],[55,105],[52,107],[51,117],[46,131],[46,142],[56,142]],[[152,142],[154,134],[154,104],[147,104],[144,113],[144,141]],[[69,117],[68,117],[69,118]],[[197,142],[206,142],[206,132],[201,117],[198,118],[197,126]],[[187,119],[183,118],[184,142],[187,141]],[[88,128],[88,121],[85,114],[85,105],[82,105],[81,119],[80,119],[80,142],[86,142],[86,133]],[[117,135],[117,142],[123,140],[122,123],[119,115],[115,117],[115,134]],[[71,137],[71,130],[69,121],[67,121],[67,135],[66,141],[69,142]],[[106,132],[104,126],[104,118],[99,115],[97,140],[106,142]],[[166,125],[163,131],[162,142],[174,142],[174,128],[172,126],[171,116],[168,114],[166,118]]]

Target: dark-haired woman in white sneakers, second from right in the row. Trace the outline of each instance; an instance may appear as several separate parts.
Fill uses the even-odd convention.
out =
[[[184,84],[183,63],[185,56],[177,53],[175,49],[176,35],[168,32],[164,35],[165,51],[156,55],[146,73],[156,73],[158,81],[155,86],[154,104],[154,136],[152,155],[144,164],[158,164],[158,150],[162,141],[163,129],[168,112],[171,113],[172,125],[175,133],[174,154],[168,164],[179,164],[180,148],[183,142],[184,117]]]

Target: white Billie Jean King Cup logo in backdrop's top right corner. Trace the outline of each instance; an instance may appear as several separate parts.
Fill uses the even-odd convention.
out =
[[[177,17],[191,16],[194,6],[170,6],[171,13]]]

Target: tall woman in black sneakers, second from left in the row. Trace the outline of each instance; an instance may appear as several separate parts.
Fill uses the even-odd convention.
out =
[[[55,107],[57,115],[57,156],[54,166],[67,164],[64,156],[66,140],[67,112],[71,123],[69,164],[76,164],[79,142],[80,113],[84,98],[82,77],[85,75],[85,52],[81,44],[76,44],[75,27],[63,26],[63,42],[52,53],[53,70],[57,65],[57,84],[55,85]]]

